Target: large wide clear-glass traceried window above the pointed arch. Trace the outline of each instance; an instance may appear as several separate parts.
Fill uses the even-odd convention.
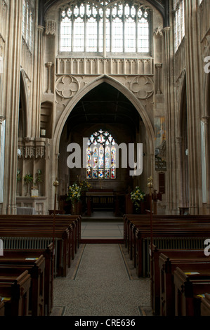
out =
[[[60,8],[60,52],[150,53],[150,8],[136,2],[75,1]]]

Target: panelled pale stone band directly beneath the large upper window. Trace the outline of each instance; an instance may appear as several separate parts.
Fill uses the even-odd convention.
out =
[[[57,58],[56,74],[153,75],[153,58]]]

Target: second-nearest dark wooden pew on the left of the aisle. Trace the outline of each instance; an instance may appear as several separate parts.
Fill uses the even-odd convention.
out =
[[[31,287],[29,293],[29,310],[32,316],[44,316],[44,269],[45,258],[0,258],[1,276],[17,273],[20,270],[28,270],[31,276]]]

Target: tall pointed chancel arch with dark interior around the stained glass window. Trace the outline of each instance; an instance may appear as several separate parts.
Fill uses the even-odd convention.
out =
[[[82,146],[83,138],[88,138],[93,132],[100,130],[110,132],[119,145],[121,143],[125,143],[127,146],[129,143],[136,145],[136,143],[143,143],[147,140],[147,144],[143,144],[143,151],[146,154],[146,157],[143,157],[144,176],[138,178],[129,176],[129,166],[127,169],[122,168],[122,158],[120,158],[116,179],[103,180],[102,183],[101,180],[91,178],[93,187],[100,189],[102,185],[105,188],[112,186],[113,190],[126,191],[129,186],[133,185],[133,180],[146,187],[147,176],[150,176],[153,171],[151,154],[154,139],[152,138],[152,124],[143,105],[140,107],[140,103],[136,102],[131,93],[110,77],[96,79],[83,88],[80,96],[77,103],[76,101],[74,101],[75,104],[70,102],[65,109],[65,117],[62,120],[64,125],[62,126],[60,119],[60,124],[57,124],[56,127],[58,149],[55,154],[59,154],[57,168],[60,192],[65,192],[69,181],[74,183],[79,179],[86,179],[86,168],[67,169],[67,145],[78,143]],[[137,104],[138,107],[136,107]],[[122,152],[123,150],[119,150],[120,157],[122,157]]]

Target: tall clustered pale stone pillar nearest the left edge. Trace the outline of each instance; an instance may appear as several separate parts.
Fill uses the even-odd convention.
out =
[[[9,1],[5,70],[6,136],[3,213],[16,213],[18,164],[18,117],[20,99],[20,59],[22,44],[22,0]]]

